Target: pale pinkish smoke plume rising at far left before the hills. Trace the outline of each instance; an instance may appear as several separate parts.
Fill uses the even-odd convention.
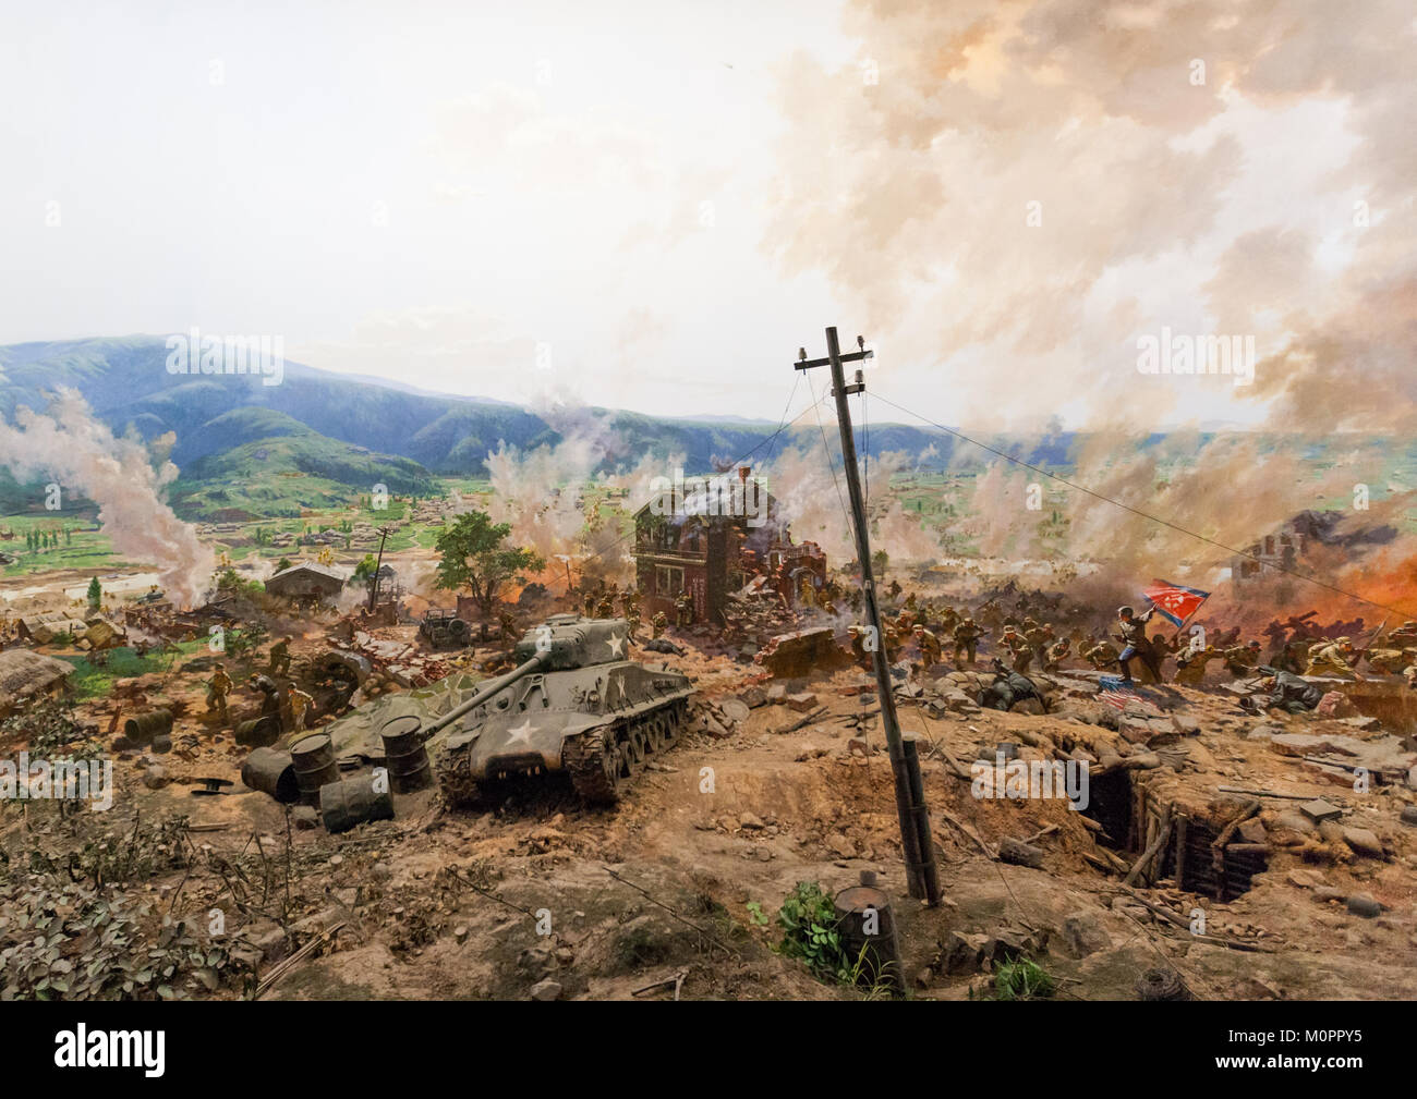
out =
[[[14,419],[14,425],[0,421],[0,463],[17,480],[52,476],[62,490],[98,503],[99,523],[113,550],[153,562],[163,589],[179,606],[197,605],[211,582],[215,558],[162,499],[177,467],[164,460],[154,469],[142,442],[115,436],[72,389],[61,388],[47,414],[21,405]]]

